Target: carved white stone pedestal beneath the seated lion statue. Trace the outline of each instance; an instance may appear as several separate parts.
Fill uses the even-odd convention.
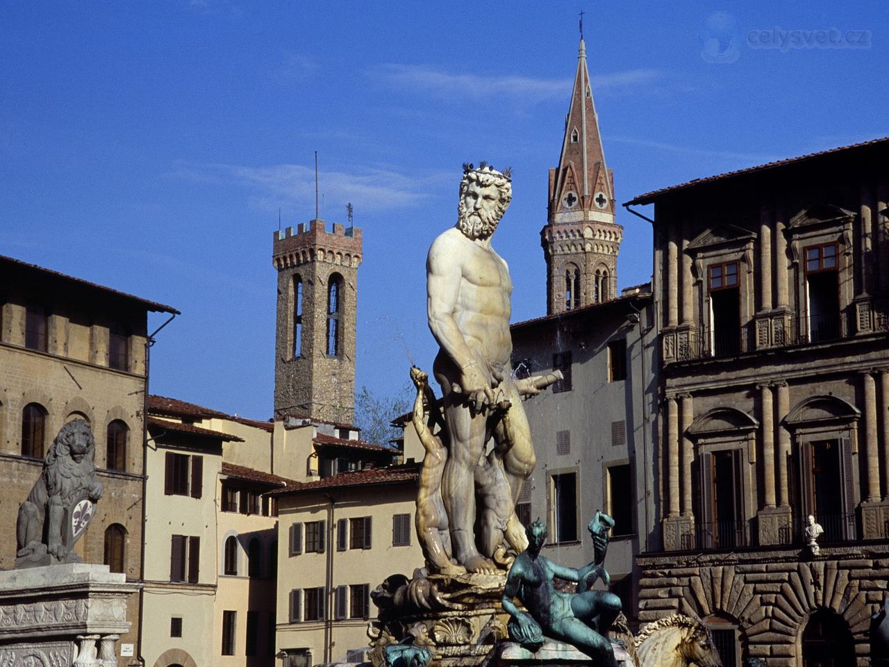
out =
[[[106,565],[0,572],[0,665],[115,667],[126,600],[140,586]]]

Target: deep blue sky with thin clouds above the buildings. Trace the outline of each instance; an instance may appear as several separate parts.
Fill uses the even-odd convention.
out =
[[[514,321],[545,312],[581,7],[619,202],[889,134],[885,3],[7,0],[0,253],[180,309],[151,390],[264,419],[271,237],[314,216],[317,150],[322,217],[364,229],[357,385],[394,393],[436,351],[423,265],[464,161],[512,166],[494,246]],[[618,221],[619,284],[645,282],[651,229]]]

